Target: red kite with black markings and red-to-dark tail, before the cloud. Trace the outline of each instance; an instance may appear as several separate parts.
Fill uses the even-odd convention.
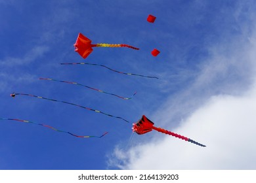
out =
[[[144,116],[144,115],[139,120],[139,122],[137,122],[136,124],[133,124],[132,129],[133,129],[133,132],[136,132],[139,135],[142,135],[144,133],[148,133],[148,132],[150,132],[154,129],[154,130],[159,131],[161,133],[165,133],[167,135],[172,135],[173,137],[177,137],[177,138],[182,139],[184,141],[188,141],[188,142],[197,144],[198,146],[205,147],[205,145],[200,144],[196,141],[193,141],[192,139],[189,139],[188,137],[184,137],[184,136],[179,135],[177,133],[167,131],[166,129],[162,129],[160,127],[155,127],[154,123],[152,121],[150,121],[148,118],[146,118],[146,116]]]

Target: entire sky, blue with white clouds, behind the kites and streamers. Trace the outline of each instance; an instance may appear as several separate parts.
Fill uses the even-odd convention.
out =
[[[0,118],[77,135],[109,132],[79,139],[1,120],[0,169],[255,169],[254,10],[254,1],[0,0]],[[154,24],[146,21],[148,14],[157,17]],[[140,50],[94,48],[83,59],[73,46],[79,32],[94,44]],[[161,52],[156,58],[150,54],[154,48]],[[60,65],[83,61],[160,79]],[[137,95],[125,101],[38,78]],[[83,105],[130,123],[64,103],[13,99],[12,92]],[[156,132],[133,134],[132,124],[142,114],[207,147]]]

